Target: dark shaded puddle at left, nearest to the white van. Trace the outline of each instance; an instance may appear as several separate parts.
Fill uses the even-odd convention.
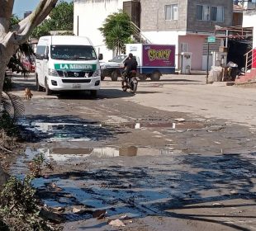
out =
[[[32,116],[19,120],[19,124],[48,142],[97,141],[113,139],[114,134],[111,128],[102,127],[102,124],[72,116]]]

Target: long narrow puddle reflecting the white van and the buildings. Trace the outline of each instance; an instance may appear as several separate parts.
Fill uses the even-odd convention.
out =
[[[173,155],[176,151],[172,147],[166,149],[150,147],[103,147],[103,148],[26,148],[24,155],[17,158],[11,168],[11,173],[26,173],[28,164],[37,154],[43,154],[48,162],[60,165],[81,163],[88,158],[117,158],[117,157],[140,157],[140,156],[162,156]],[[178,151],[177,151],[178,152]]]

